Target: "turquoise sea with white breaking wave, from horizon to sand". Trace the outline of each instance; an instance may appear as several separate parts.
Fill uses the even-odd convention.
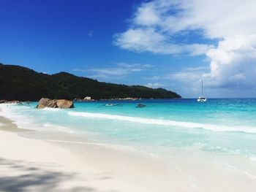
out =
[[[146,107],[137,108],[138,103]],[[95,101],[68,110],[37,110],[36,105],[1,105],[1,115],[24,128],[57,128],[90,135],[94,142],[256,156],[256,99]]]

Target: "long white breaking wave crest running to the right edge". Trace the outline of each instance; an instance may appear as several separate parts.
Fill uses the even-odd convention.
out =
[[[203,128],[211,131],[238,131],[245,133],[254,133],[256,134],[255,127],[249,126],[224,126],[224,125],[212,125],[208,123],[193,123],[193,122],[184,122],[184,121],[175,121],[175,120],[163,120],[163,119],[151,119],[151,118],[136,118],[124,115],[110,115],[104,113],[93,113],[93,112],[68,112],[69,115],[79,116],[83,118],[102,118],[108,120],[124,120],[132,123],[143,123],[150,125],[158,126],[178,126],[184,128]]]

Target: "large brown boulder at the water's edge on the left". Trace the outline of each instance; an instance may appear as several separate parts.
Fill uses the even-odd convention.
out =
[[[37,109],[43,109],[45,107],[51,108],[73,108],[74,104],[72,101],[66,99],[47,99],[42,98],[40,99]]]

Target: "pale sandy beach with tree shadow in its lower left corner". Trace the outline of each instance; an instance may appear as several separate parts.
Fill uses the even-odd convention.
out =
[[[230,165],[224,167],[231,171],[219,172],[223,167],[215,162],[214,155],[203,164],[197,160],[205,154],[195,155],[189,150],[173,153],[170,159],[148,157],[129,148],[91,143],[59,131],[21,131],[6,118],[0,118],[0,123],[0,191],[255,189],[249,184],[256,180],[255,174],[239,172],[233,176]],[[225,161],[228,163],[230,158]],[[14,182],[18,184],[13,186]]]

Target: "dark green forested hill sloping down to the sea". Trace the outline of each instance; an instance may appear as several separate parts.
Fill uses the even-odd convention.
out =
[[[178,99],[173,91],[141,85],[118,85],[77,77],[67,72],[45,74],[32,69],[0,64],[0,99],[38,101],[50,99]]]

